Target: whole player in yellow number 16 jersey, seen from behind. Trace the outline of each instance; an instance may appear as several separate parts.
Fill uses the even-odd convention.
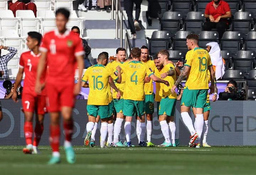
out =
[[[94,128],[96,117],[101,118],[101,143],[102,148],[105,147],[105,139],[108,130],[109,114],[109,97],[108,97],[108,81],[111,77],[117,83],[121,83],[121,68],[116,67],[116,71],[106,67],[108,58],[105,53],[100,53],[97,59],[98,64],[89,67],[82,78],[82,86],[89,81],[90,92],[87,101],[87,113],[89,122],[86,125],[87,135],[85,138],[86,145],[91,139],[91,131]]]

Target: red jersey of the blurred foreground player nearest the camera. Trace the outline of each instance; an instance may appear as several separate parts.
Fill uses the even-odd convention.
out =
[[[40,51],[47,52],[47,82],[74,83],[75,56],[84,54],[78,34],[68,30],[64,34],[60,34],[58,30],[48,32],[43,37]]]

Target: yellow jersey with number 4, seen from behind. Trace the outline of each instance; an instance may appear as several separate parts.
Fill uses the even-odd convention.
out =
[[[140,61],[125,62],[122,66],[125,75],[123,99],[142,101],[145,99],[144,79],[154,72]]]

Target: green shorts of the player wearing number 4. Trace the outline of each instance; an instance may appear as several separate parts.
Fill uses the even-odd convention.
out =
[[[143,101],[135,101],[135,100],[125,100],[124,99],[124,109],[123,115],[125,116],[142,116],[145,113],[145,102]]]

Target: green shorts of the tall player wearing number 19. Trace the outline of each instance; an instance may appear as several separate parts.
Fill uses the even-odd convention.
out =
[[[207,92],[207,89],[190,90],[186,88],[183,91],[181,105],[204,108],[206,106]]]

